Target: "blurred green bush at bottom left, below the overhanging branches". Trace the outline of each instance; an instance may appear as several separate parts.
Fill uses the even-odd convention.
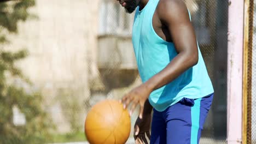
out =
[[[49,139],[51,123],[43,111],[42,96],[39,93],[27,94],[15,86],[6,87],[7,92],[0,96],[0,141],[3,143],[44,143]],[[26,116],[26,125],[13,124],[12,106],[18,106]]]

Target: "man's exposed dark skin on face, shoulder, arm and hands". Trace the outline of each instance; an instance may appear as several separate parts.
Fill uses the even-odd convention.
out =
[[[126,8],[130,1],[136,1],[140,10],[148,3],[148,0],[120,0],[119,2]],[[153,109],[148,101],[150,93],[172,82],[198,62],[195,31],[183,1],[160,0],[153,16],[153,27],[159,37],[174,44],[178,55],[158,74],[132,89],[121,99],[124,108],[131,105],[130,115],[137,105],[140,106],[139,117],[135,124],[136,144],[148,143],[146,136],[150,137],[150,121],[148,119],[151,119],[150,114]]]

